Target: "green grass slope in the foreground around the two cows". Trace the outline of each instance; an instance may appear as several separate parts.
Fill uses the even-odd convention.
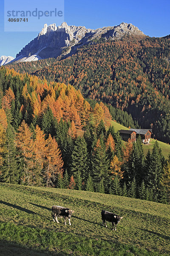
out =
[[[74,209],[71,226],[52,205]],[[101,210],[123,216],[102,227]],[[94,192],[0,183],[0,255],[170,255],[170,206]]]

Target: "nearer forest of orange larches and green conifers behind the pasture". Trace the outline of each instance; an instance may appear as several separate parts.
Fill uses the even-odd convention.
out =
[[[169,202],[170,157],[122,138],[72,85],[0,69],[0,181]],[[113,111],[114,112],[114,111]],[[114,113],[113,113],[114,114]]]

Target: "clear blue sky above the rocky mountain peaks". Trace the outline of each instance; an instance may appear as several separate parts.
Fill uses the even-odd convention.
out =
[[[17,3],[17,0],[13,0]],[[23,1],[24,2],[24,1]],[[30,1],[25,1],[29,2]],[[49,0],[49,3],[51,1]],[[35,6],[47,4],[47,0],[34,0]],[[145,35],[162,37],[170,34],[170,0],[65,0],[64,21],[68,25],[96,29],[115,26],[122,22],[132,23]],[[49,20],[49,19],[48,19]],[[4,32],[4,3],[0,1],[0,56],[15,55],[44,26],[57,23],[55,17],[38,24],[37,32]],[[57,24],[60,25],[60,24]]]

